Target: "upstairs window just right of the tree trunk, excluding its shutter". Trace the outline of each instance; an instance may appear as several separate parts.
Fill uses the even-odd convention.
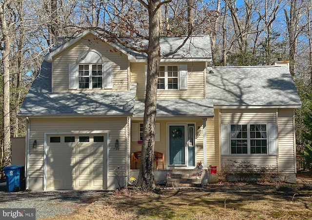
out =
[[[178,66],[159,66],[157,89],[178,89]]]

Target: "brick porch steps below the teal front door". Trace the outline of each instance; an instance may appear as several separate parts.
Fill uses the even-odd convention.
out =
[[[167,173],[166,187],[200,187],[202,173],[190,171],[175,171]]]

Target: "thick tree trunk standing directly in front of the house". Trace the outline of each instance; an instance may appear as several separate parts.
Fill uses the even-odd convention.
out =
[[[149,11],[149,46],[147,59],[147,84],[145,95],[145,110],[143,122],[143,141],[141,167],[138,185],[145,192],[155,188],[154,180],[154,147],[155,147],[155,121],[156,121],[156,97],[158,66],[160,62],[160,8],[157,8],[159,0],[150,1]]]

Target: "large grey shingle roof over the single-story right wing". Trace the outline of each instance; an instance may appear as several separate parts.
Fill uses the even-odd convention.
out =
[[[207,97],[214,106],[300,107],[286,66],[213,67],[207,73]]]

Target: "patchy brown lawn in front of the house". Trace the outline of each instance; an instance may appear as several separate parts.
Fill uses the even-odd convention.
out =
[[[310,220],[312,184],[213,184],[201,189],[162,189],[148,194],[128,188],[80,206],[75,213],[61,218]]]

